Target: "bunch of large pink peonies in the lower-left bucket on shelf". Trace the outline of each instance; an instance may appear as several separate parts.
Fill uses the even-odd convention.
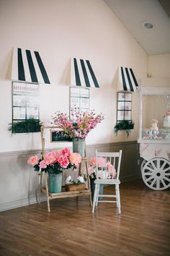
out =
[[[41,160],[37,155],[31,156],[28,164],[34,166],[35,171],[45,171],[58,174],[66,168],[76,168],[81,163],[81,155],[79,153],[71,153],[68,148],[61,151],[48,151]]]

